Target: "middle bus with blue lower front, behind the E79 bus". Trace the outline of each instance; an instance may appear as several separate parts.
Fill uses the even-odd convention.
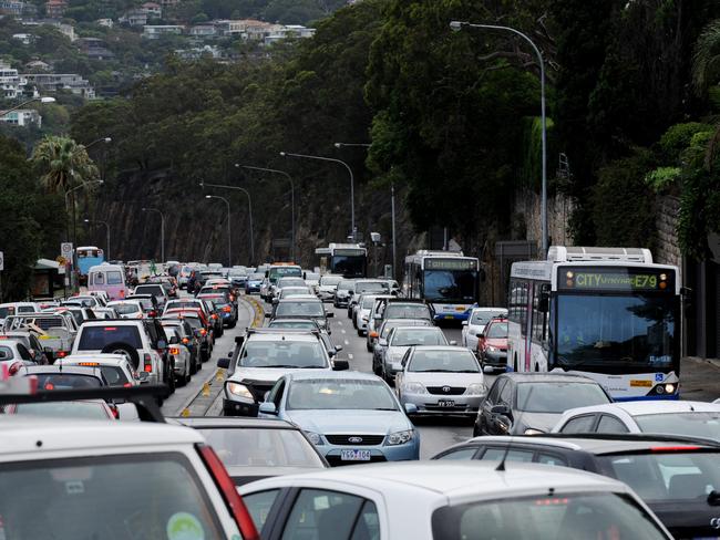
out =
[[[405,258],[403,293],[430,303],[436,321],[466,321],[480,295],[479,270],[462,251],[421,250]]]

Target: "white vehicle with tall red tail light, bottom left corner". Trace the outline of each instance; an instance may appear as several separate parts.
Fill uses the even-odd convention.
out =
[[[8,539],[259,538],[217,455],[191,428],[0,416]]]

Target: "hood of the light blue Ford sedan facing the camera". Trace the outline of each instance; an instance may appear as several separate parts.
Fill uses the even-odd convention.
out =
[[[286,411],[285,419],[318,434],[387,435],[412,429],[401,411]]]

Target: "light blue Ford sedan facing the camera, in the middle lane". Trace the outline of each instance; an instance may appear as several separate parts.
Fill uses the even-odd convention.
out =
[[[260,404],[263,417],[300,426],[328,463],[419,459],[420,433],[388,385],[360,372],[286,373]]]

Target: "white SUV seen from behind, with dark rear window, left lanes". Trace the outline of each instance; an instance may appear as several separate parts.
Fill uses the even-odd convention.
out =
[[[167,338],[156,319],[86,322],[80,326],[72,354],[92,353],[124,354],[134,370],[146,374],[141,381],[175,390]]]

